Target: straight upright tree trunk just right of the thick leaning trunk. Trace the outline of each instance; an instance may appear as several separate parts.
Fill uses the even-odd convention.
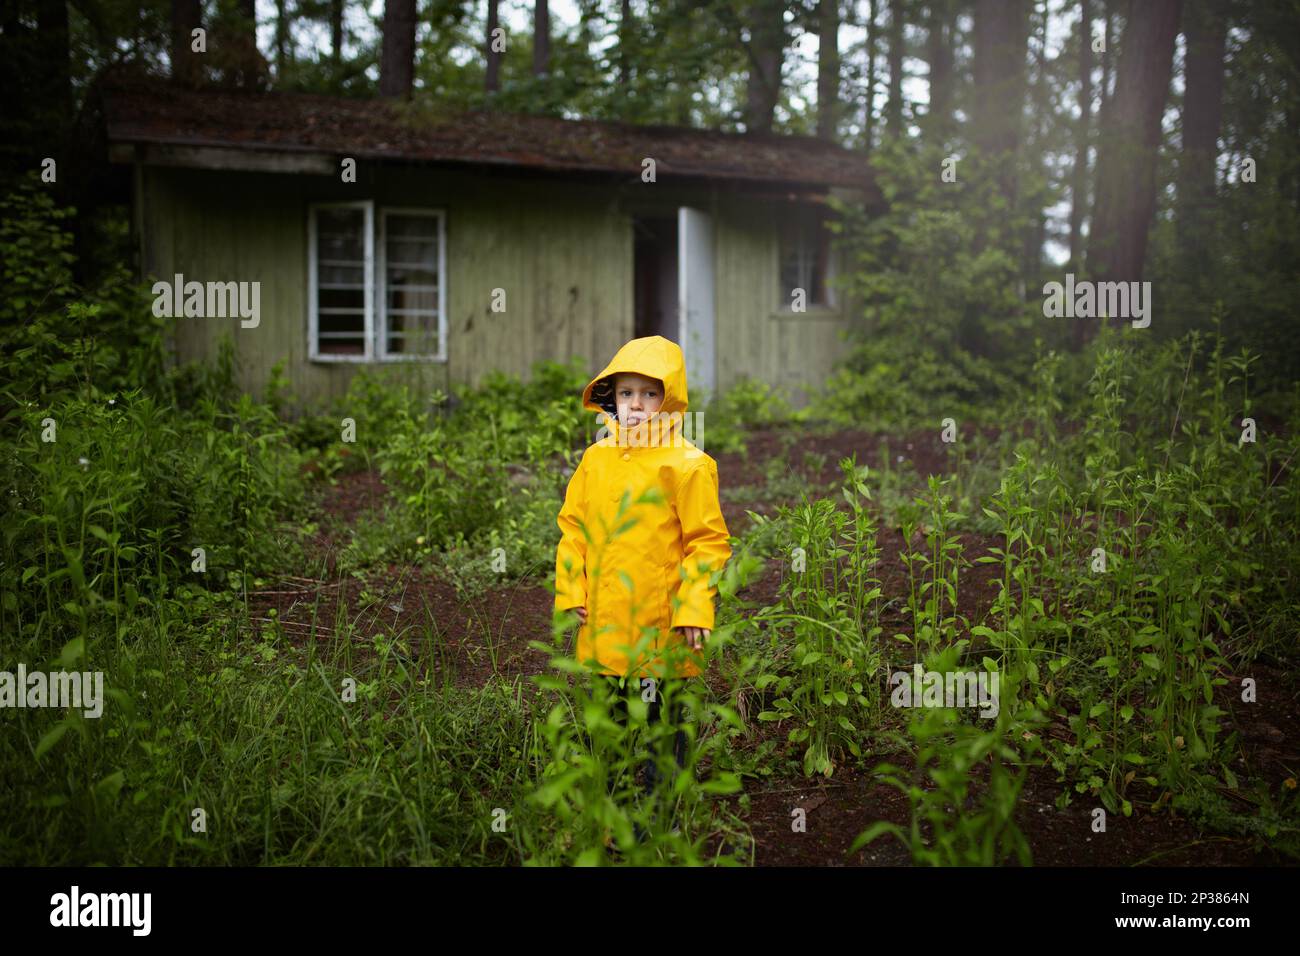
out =
[[[1223,120],[1226,9],[1201,0],[1183,9],[1183,151],[1178,165],[1178,245],[1193,276],[1209,265],[1218,133]]]

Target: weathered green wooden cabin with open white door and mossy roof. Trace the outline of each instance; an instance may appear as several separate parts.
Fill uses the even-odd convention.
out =
[[[161,81],[101,109],[140,273],[181,306],[176,356],[230,334],[244,389],[283,362],[309,406],[360,365],[448,390],[541,359],[595,371],[650,334],[682,346],[697,402],[744,377],[800,402],[854,317],[827,199],[879,203],[862,155],[805,137]],[[234,313],[248,289],[256,321]]]

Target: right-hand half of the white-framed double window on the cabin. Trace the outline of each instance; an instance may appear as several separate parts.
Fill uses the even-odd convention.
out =
[[[438,217],[389,213],[384,221],[385,350],[438,352]]]

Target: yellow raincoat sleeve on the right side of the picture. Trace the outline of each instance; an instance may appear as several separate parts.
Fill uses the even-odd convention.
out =
[[[710,459],[692,468],[677,488],[681,522],[681,579],[677,584],[672,627],[714,627],[711,572],[731,558],[727,523],[718,501],[718,466]],[[707,566],[707,567],[706,567]]]

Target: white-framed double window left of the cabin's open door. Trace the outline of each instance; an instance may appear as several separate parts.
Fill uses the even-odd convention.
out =
[[[445,362],[446,248],[437,209],[308,209],[311,358]]]

